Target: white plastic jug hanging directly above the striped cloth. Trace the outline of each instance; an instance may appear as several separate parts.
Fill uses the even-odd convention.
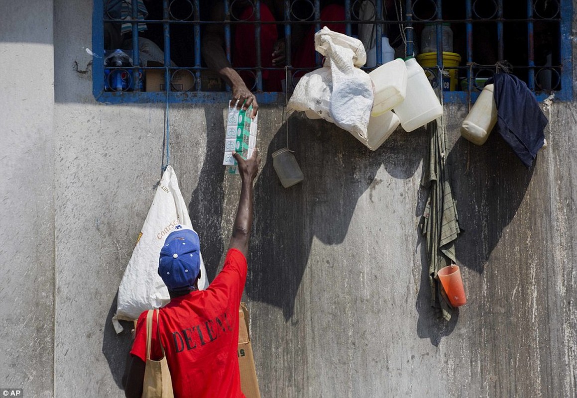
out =
[[[409,58],[404,64],[407,67],[407,92],[404,101],[393,110],[403,129],[412,132],[441,117],[443,107],[417,60]]]

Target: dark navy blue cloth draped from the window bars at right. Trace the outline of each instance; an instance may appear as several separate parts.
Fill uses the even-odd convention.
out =
[[[523,164],[529,168],[544,143],[543,130],[548,123],[537,99],[527,85],[511,74],[495,74],[493,84],[497,106],[497,126]]]

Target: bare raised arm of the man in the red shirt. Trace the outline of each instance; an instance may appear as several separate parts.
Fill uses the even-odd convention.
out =
[[[242,159],[238,152],[233,153],[241,174],[241,196],[238,200],[237,216],[234,219],[233,236],[230,238],[228,249],[238,249],[246,257],[249,253],[249,238],[253,219],[253,181],[258,173],[260,157],[257,149],[249,159]]]

